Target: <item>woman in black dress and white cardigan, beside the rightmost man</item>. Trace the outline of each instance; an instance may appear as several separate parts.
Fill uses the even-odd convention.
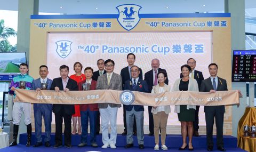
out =
[[[198,85],[194,78],[189,78],[191,68],[188,65],[181,66],[182,78],[175,81],[172,91],[198,91]],[[175,106],[175,113],[178,113],[178,118],[181,123],[181,135],[182,146],[179,150],[185,150],[187,147],[189,150],[194,150],[192,145],[193,137],[193,122],[195,121],[195,109],[196,106],[181,105]],[[188,129],[187,129],[188,128]],[[187,144],[187,134],[189,142]]]

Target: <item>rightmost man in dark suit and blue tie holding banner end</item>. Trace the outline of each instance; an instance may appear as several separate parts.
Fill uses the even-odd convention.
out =
[[[218,65],[211,63],[209,66],[210,77],[203,80],[200,91],[215,93],[216,91],[227,91],[227,82],[225,79],[217,76]],[[217,147],[220,151],[226,151],[223,147],[223,119],[225,113],[225,106],[204,106],[205,122],[206,122],[206,138],[207,138],[207,150],[213,150],[213,124],[215,117],[215,124],[217,128]]]

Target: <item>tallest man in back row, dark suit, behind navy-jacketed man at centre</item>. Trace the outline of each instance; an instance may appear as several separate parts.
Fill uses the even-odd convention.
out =
[[[124,90],[124,83],[127,81],[127,80],[129,80],[129,79],[131,79],[132,77],[131,77],[131,67],[134,65],[134,62],[135,62],[135,59],[136,59],[136,57],[135,57],[135,54],[133,54],[133,53],[129,53],[128,55],[127,55],[127,57],[126,57],[126,59],[127,59],[127,62],[128,62],[128,66],[127,67],[125,67],[125,68],[123,68],[122,70],[121,70],[121,77],[122,77],[122,82],[123,82],[123,90]],[[139,74],[139,78],[141,78],[142,79],[142,70],[141,70],[141,68],[139,68],[139,70],[140,70],[140,74]],[[122,135],[126,135],[127,134],[127,129],[126,129],[126,113],[125,113],[125,106],[126,105],[123,105],[124,107],[123,107],[123,111],[124,111],[124,113],[123,113],[123,120],[124,120],[124,132],[122,133]],[[133,124],[133,133],[134,133],[134,135],[136,135],[137,134],[137,132],[136,132],[136,121],[135,121],[135,119],[134,119],[134,124]]]

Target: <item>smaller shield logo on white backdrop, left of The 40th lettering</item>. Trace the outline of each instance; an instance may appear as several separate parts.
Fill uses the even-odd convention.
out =
[[[66,58],[71,52],[71,41],[57,41],[55,42],[57,44],[56,52],[59,54],[61,58]]]

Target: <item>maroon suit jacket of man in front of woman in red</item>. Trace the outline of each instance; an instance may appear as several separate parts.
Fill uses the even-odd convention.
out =
[[[79,91],[83,91],[82,84],[85,83],[85,82],[86,82],[86,80],[84,80],[84,81],[78,83],[78,90],[79,90]],[[91,89],[91,90],[95,90],[95,89],[96,89],[96,84],[97,84],[97,81],[94,81],[94,80],[92,79],[90,89]],[[93,103],[93,104],[81,104],[81,105],[80,105],[80,111],[86,111],[87,108],[89,108],[90,111],[99,111],[98,103]]]

